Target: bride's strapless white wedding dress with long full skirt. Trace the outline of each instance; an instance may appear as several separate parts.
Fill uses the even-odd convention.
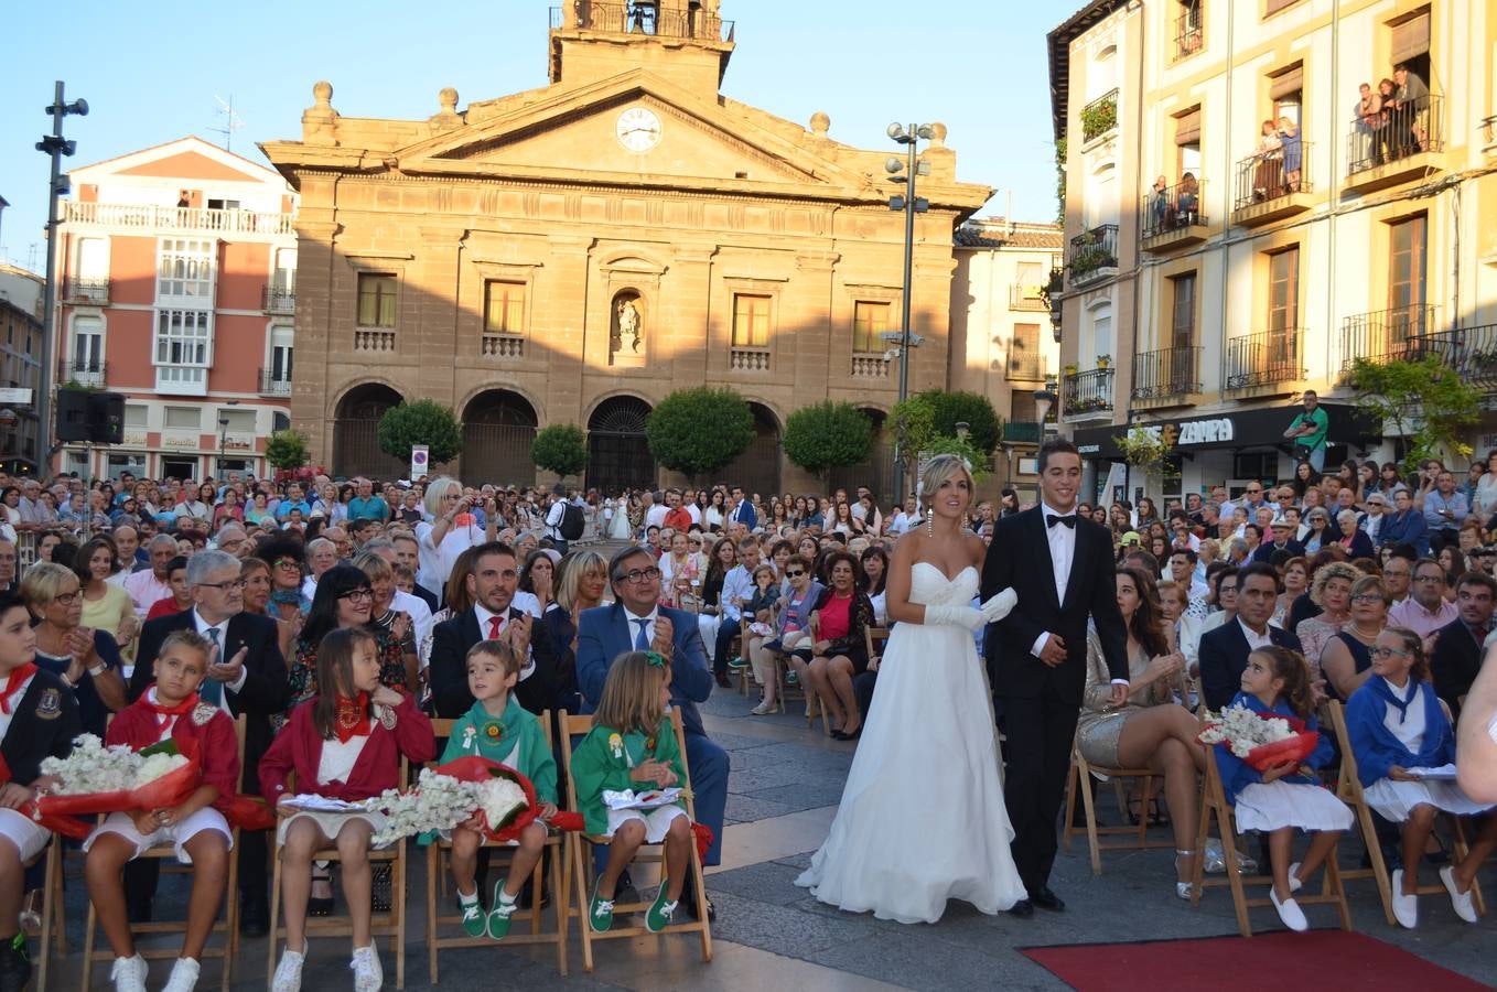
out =
[[[928,561],[910,601],[966,606],[978,570]],[[795,880],[822,902],[934,923],[948,899],[1000,913],[1025,898],[1009,841],[988,676],[963,627],[895,624],[831,835]]]

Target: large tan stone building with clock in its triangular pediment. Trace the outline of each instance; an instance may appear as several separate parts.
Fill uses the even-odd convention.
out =
[[[897,399],[898,147],[722,96],[734,30],[714,0],[567,4],[546,43],[542,88],[461,108],[449,88],[430,118],[382,120],[343,117],[319,82],[301,141],[262,145],[301,196],[292,420],[314,459],[403,474],[376,420],[430,397],[464,422],[469,480],[533,480],[536,428],[572,422],[588,485],[647,483],[644,417],[713,385],[759,422],[720,477],[811,486],[780,453],[786,416],[829,397],[882,419]],[[945,135],[922,148],[912,391],[948,385],[952,235],[991,195],[957,181]],[[861,477],[883,485],[876,461]]]

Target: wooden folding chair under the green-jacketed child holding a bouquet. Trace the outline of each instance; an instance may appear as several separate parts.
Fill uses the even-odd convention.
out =
[[[561,721],[566,721],[566,711],[561,711]],[[433,720],[431,727],[436,730],[437,739],[452,736],[452,724],[455,720]],[[540,727],[546,733],[546,748],[551,747],[551,711],[540,714]],[[436,768],[437,762],[430,762],[427,768]],[[442,838],[434,839],[427,845],[427,958],[428,968],[431,974],[431,985],[437,983],[437,953],[445,947],[510,947],[515,944],[554,944],[557,949],[557,970],[566,974],[566,928],[567,928],[567,857],[570,851],[567,850],[569,835],[566,833],[551,833],[546,838],[545,856],[536,862],[536,869],[530,875],[530,892],[531,892],[531,908],[515,910],[513,919],[516,922],[528,922],[530,932],[510,931],[503,941],[494,941],[485,937],[469,937],[466,932],[460,931],[460,937],[443,935],[442,928],[454,928],[463,923],[463,916],[460,913],[442,913],[437,902],[437,883],[448,878],[448,853],[452,850],[452,841]],[[484,847],[496,853],[509,853],[510,845],[494,844],[485,841]],[[496,859],[497,860],[497,859]],[[546,862],[549,860],[549,872],[543,872]],[[490,862],[493,866],[493,862]],[[545,874],[551,875],[551,899],[555,910],[555,929],[551,932],[540,931],[540,916],[542,908],[542,890]],[[491,907],[493,908],[493,907]]]

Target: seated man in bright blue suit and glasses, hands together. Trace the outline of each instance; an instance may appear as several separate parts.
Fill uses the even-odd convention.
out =
[[[704,859],[722,860],[723,811],[728,806],[728,753],[708,739],[696,703],[713,691],[713,670],[698,633],[696,616],[660,606],[660,569],[644,548],[624,548],[608,563],[612,606],[582,610],[576,625],[576,679],[584,709],[593,712],[614,658],[629,651],[657,651],[671,663],[671,706],[686,732],[696,817],[713,829]],[[693,905],[692,901],[681,901]]]

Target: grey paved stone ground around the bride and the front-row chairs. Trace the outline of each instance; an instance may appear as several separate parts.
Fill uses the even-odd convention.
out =
[[[826,835],[852,762],[850,744],[828,741],[805,729],[795,715],[750,717],[750,705],[737,693],[719,691],[708,702],[710,732],[732,754],[725,859],[708,880],[719,920],[713,931],[714,962],[702,965],[690,938],[612,941],[599,949],[597,970],[582,971],[581,946],[570,947],[569,977],[555,970],[546,949],[473,949],[445,952],[442,988],[501,989],[1064,989],[1048,971],[1016,949],[1046,944],[1160,940],[1172,937],[1234,935],[1231,896],[1211,890],[1201,907],[1175,899],[1169,850],[1118,851],[1103,856],[1103,875],[1093,875],[1084,841],[1061,851],[1052,884],[1069,908],[1039,913],[1033,920],[985,917],[954,902],[934,926],[903,926],[853,916],[822,905],[793,880]],[[1106,800],[1105,800],[1106,802]],[[1111,809],[1106,809],[1111,812]],[[1346,863],[1361,851],[1350,841]],[[1430,872],[1433,880],[1433,872]],[[1497,898],[1494,872],[1487,890]],[[425,934],[425,859],[412,859],[406,940],[406,988],[428,989]],[[181,911],[180,881],[163,884],[162,914]],[[1356,928],[1404,947],[1428,961],[1491,983],[1497,976],[1497,929],[1493,917],[1470,926],[1460,922],[1449,902],[1421,899],[1415,932],[1389,928],[1370,881],[1352,883]],[[52,988],[79,988],[82,920],[81,878],[69,877],[69,935],[73,955],[54,971]],[[1334,910],[1310,907],[1311,925],[1334,926]],[[1269,910],[1253,913],[1260,929],[1280,929]],[[102,943],[102,937],[100,937]],[[235,989],[265,988],[263,940],[243,941]],[[394,955],[382,949],[386,988],[394,988]],[[153,964],[151,988],[165,982],[166,962]],[[103,988],[108,967],[94,973]],[[204,967],[201,988],[217,983],[216,962]],[[343,989],[347,943],[314,941],[304,988]],[[1169,983],[1159,979],[1159,988]]]

